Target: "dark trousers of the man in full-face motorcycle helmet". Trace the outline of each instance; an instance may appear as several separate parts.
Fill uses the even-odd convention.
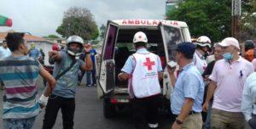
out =
[[[53,94],[50,96],[45,109],[43,129],[51,129],[55,125],[59,109],[62,113],[63,129],[73,129],[75,99],[61,98]]]

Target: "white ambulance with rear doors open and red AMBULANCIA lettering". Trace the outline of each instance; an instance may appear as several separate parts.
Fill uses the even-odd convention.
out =
[[[160,81],[163,107],[170,110],[172,85],[166,64],[175,61],[176,46],[180,42],[191,42],[189,27],[176,20],[108,20],[102,45],[102,55],[96,62],[97,95],[103,99],[103,114],[112,118],[119,109],[131,105],[128,81],[119,81],[118,75],[126,59],[136,50],[132,39],[137,31],[148,36],[148,51],[160,56],[164,70]]]

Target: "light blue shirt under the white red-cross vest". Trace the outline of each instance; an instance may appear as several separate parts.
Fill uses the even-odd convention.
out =
[[[150,53],[150,52],[148,52],[148,50],[146,48],[140,48],[137,50],[136,53]],[[126,60],[125,65],[122,69],[122,71],[124,71],[127,74],[131,74],[132,70],[134,69],[133,66],[135,66],[135,61],[132,58],[133,58],[132,56],[129,56],[129,58]],[[157,60],[158,60],[157,61],[157,66],[158,66],[157,70],[161,71],[162,66],[161,66],[160,58],[158,57]]]

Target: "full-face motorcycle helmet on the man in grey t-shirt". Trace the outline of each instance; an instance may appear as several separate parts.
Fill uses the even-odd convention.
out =
[[[70,44],[73,42],[78,43],[80,45],[80,48],[79,49],[70,48]],[[78,59],[81,53],[83,53],[84,40],[80,36],[69,36],[67,38],[66,43],[67,43],[66,44],[67,53],[69,53],[71,56],[74,56]]]

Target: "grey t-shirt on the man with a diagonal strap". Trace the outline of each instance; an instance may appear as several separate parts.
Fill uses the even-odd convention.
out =
[[[65,51],[61,51],[60,53],[61,61],[55,62],[53,76],[61,74],[61,72],[66,70],[73,62],[73,59]],[[76,87],[78,86],[79,70],[82,68],[82,65],[84,65],[84,61],[77,59],[73,67],[56,81],[53,94],[63,98],[74,98]]]

